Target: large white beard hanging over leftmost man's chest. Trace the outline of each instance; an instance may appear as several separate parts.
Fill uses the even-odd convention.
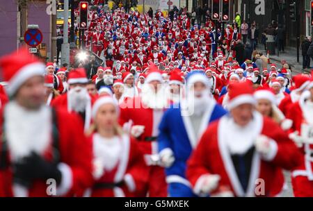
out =
[[[25,110],[15,101],[8,103],[4,112],[6,137],[13,161],[30,155],[31,151],[42,155],[51,141],[50,108]]]

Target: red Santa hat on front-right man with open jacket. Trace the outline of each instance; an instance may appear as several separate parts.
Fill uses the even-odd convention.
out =
[[[230,84],[228,94],[230,97],[230,103],[227,105],[227,108],[230,110],[244,103],[255,105],[255,98],[253,96],[251,83],[232,83]]]

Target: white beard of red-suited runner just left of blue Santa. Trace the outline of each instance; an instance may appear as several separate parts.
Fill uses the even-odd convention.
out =
[[[144,83],[141,88],[141,100],[145,105],[147,105],[149,108],[159,108],[163,109],[166,108],[168,105],[168,99],[166,97],[165,88],[161,88],[158,90],[157,93],[154,92],[154,88],[151,87],[150,84]]]

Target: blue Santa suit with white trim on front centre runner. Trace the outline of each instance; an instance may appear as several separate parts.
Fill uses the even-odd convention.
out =
[[[183,115],[182,108],[186,107],[178,105],[166,110],[159,125],[158,146],[160,155],[162,151],[171,150],[175,156],[175,162],[171,167],[166,168],[168,193],[172,197],[195,196],[190,183],[186,179],[185,171],[186,162],[193,149],[195,149],[200,135],[195,135],[191,119],[188,115]],[[227,111],[212,99],[204,115],[202,115],[199,134],[204,132],[209,123],[219,119],[226,113]]]

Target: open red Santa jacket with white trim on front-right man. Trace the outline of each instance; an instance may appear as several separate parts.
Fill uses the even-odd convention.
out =
[[[252,124],[256,127],[250,128],[250,131],[246,130],[246,133],[240,133],[242,131],[237,130],[238,128],[233,123],[230,124],[231,121],[227,117],[221,118],[207,128],[197,149],[189,160],[186,171],[195,193],[200,193],[204,175],[218,174],[220,176],[218,187],[216,188],[218,191],[227,188],[230,189],[234,196],[255,196],[256,181],[261,178],[265,185],[265,196],[271,196],[273,175],[277,169],[275,166],[291,169],[297,164],[299,155],[296,151],[296,146],[288,139],[282,129],[271,119],[262,117],[259,113],[255,113],[254,117],[256,119]],[[277,146],[277,151],[271,158],[262,157],[256,151],[252,152],[248,188],[245,191],[236,174],[234,163],[232,162],[232,154],[227,148],[236,147],[232,146],[233,144],[230,144],[230,142],[241,142],[242,137],[245,137],[246,140],[251,139],[250,147],[253,148],[253,137],[258,135],[266,135],[271,138]],[[238,143],[237,145],[239,150],[243,148]],[[249,145],[247,147],[248,149],[244,150],[243,153],[249,154],[253,150],[249,149]]]

